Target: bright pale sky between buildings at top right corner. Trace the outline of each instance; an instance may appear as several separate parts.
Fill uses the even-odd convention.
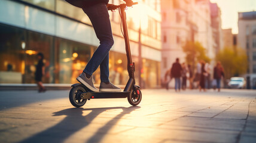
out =
[[[232,29],[232,33],[238,33],[238,12],[256,11],[255,0],[210,0],[221,8],[221,20],[223,29]]]

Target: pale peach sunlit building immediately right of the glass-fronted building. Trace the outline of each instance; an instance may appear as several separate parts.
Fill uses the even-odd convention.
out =
[[[188,23],[189,1],[161,1],[162,13],[162,64],[161,76],[170,69],[176,58],[185,61],[182,45],[190,39]]]

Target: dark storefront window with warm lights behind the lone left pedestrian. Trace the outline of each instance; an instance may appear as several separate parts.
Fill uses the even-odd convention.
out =
[[[0,83],[35,83],[36,54],[44,54],[44,83],[50,83],[53,37],[0,24]]]

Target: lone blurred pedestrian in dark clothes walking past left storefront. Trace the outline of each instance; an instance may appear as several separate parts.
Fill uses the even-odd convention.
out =
[[[37,54],[38,57],[38,63],[36,64],[36,70],[35,70],[35,81],[38,85],[38,92],[45,92],[46,89],[42,85],[42,76],[44,76],[44,54],[39,52]]]

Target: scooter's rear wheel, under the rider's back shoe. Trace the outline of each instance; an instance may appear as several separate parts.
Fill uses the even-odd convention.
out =
[[[87,100],[84,100],[80,97],[80,94],[83,92],[87,92],[83,86],[75,86],[69,92],[69,101],[74,107],[82,107],[86,104]]]

